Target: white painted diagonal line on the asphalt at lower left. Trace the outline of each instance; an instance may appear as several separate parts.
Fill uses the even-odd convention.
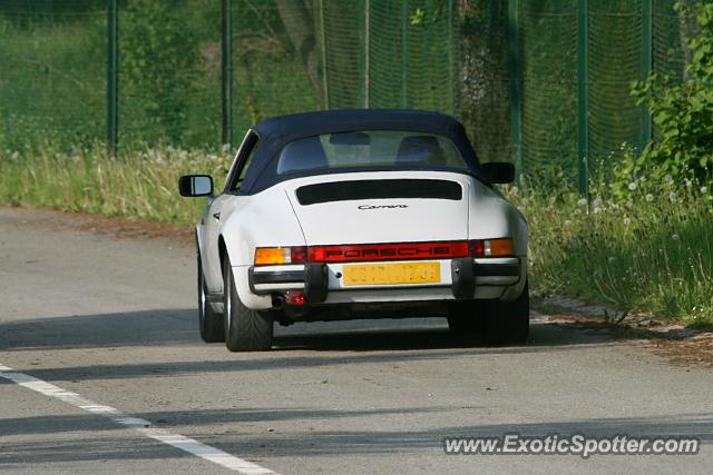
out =
[[[146,419],[131,417],[114,407],[105,406],[102,404],[97,404],[92,400],[85,399],[77,393],[65,390],[61,387],[55,386],[53,384],[43,382],[33,376],[26,375],[23,373],[16,373],[14,369],[2,364],[0,364],[0,377],[11,380],[19,386],[32,389],[45,396],[53,397],[56,399],[60,399],[65,403],[71,404],[72,406],[79,407],[80,409],[107,417],[115,423],[125,427],[133,428],[134,431],[137,431],[144,434],[146,437],[153,438],[154,441],[163,442],[164,444],[168,444],[173,447],[187,452],[191,455],[195,455],[196,457],[201,457],[205,461],[213,462],[214,464],[222,465],[225,468],[229,468],[241,474],[279,475],[276,472],[273,472],[265,467],[261,467],[260,465],[252,462],[235,457],[226,452],[219,451],[215,447],[211,447],[209,445],[202,444],[193,438],[186,437],[180,434],[173,434],[166,429],[155,427],[150,422]]]

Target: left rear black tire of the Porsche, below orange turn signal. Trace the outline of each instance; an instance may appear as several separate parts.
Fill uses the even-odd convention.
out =
[[[245,307],[237,296],[233,267],[227,256],[223,258],[223,325],[225,346],[231,352],[261,352],[272,347],[273,316],[270,311],[256,311]]]

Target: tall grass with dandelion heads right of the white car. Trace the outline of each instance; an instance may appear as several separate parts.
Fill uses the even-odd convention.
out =
[[[564,187],[563,187],[564,188]],[[530,275],[544,293],[713,324],[713,197],[693,182],[614,198],[509,189],[530,231]]]

